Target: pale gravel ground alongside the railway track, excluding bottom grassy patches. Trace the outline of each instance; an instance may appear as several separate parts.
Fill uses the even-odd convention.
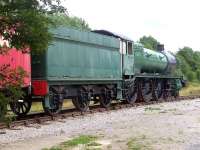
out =
[[[130,138],[139,135],[151,139],[151,146],[155,149],[195,149],[200,143],[199,114],[200,99],[195,99],[70,117],[47,125],[6,129],[6,134],[0,134],[0,149],[12,149],[17,143],[21,145],[15,145],[15,150],[23,149],[23,143],[26,147],[29,140],[34,142],[48,137],[63,140],[63,137],[67,139],[81,134],[103,135],[113,149],[125,148]],[[51,145],[50,141],[46,146]]]

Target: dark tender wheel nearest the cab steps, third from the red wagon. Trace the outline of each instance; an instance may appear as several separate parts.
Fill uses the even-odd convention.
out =
[[[112,102],[111,94],[108,93],[107,89],[103,89],[100,95],[101,107],[108,108]]]

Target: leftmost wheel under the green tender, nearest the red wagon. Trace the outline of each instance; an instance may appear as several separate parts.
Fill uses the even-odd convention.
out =
[[[46,105],[48,103],[48,106]],[[44,112],[49,115],[58,114],[62,110],[63,100],[60,99],[58,94],[49,92],[49,97],[44,98],[42,101],[42,106]]]

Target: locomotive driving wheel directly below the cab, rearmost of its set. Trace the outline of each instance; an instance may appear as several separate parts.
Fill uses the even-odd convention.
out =
[[[133,87],[129,87],[126,92],[126,102],[128,104],[134,104],[137,100],[138,95],[138,86],[137,82],[135,82]]]

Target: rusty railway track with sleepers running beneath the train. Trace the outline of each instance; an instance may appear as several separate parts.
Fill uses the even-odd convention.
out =
[[[39,124],[39,125],[45,125],[51,121],[61,121],[65,118],[68,117],[77,117],[77,116],[84,116],[87,114],[94,114],[96,112],[106,112],[106,111],[114,111],[114,110],[119,110],[123,108],[131,108],[131,107],[138,107],[138,106],[143,106],[143,105],[152,105],[152,104],[158,104],[158,103],[164,103],[164,102],[174,102],[174,101],[182,101],[182,100],[188,100],[188,99],[196,99],[200,98],[199,96],[180,96],[178,98],[169,98],[167,100],[160,100],[160,101],[150,101],[148,103],[146,102],[140,102],[140,103],[135,103],[135,104],[126,104],[123,102],[120,103],[113,103],[109,108],[101,108],[99,105],[94,105],[90,107],[90,110],[86,112],[80,112],[76,109],[65,109],[62,110],[60,114],[49,116],[46,115],[45,113],[34,113],[34,114],[29,114],[23,118],[16,118],[15,121],[12,121],[9,124],[6,123],[0,123],[0,129],[13,129],[17,130],[16,127],[19,126],[25,126],[25,127],[33,127],[34,124]],[[2,133],[4,134],[4,132]]]

